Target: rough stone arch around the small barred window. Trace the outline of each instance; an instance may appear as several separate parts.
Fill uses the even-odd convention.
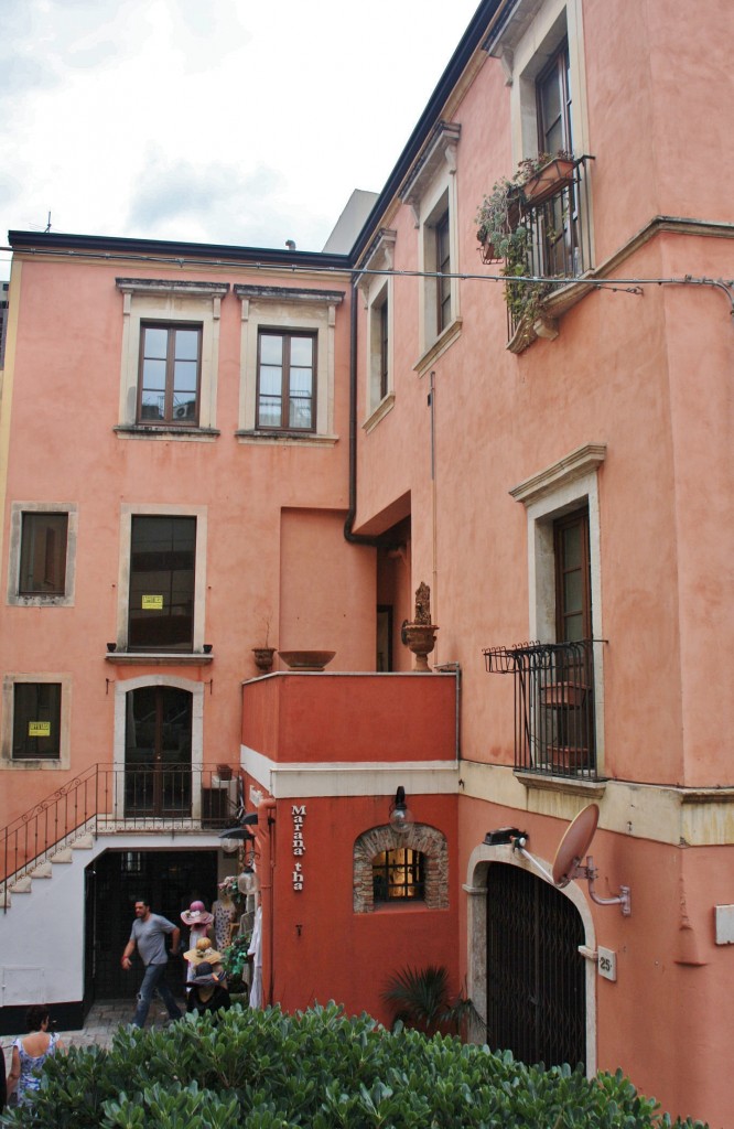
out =
[[[429,910],[448,909],[448,846],[446,835],[426,823],[411,823],[408,831],[394,831],[388,823],[370,828],[355,841],[353,909],[355,913],[372,913],[373,859],[386,850],[410,847],[420,851],[426,863],[425,905]]]

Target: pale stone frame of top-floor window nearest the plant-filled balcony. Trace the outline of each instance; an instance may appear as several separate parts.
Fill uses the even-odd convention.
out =
[[[451,279],[451,317],[438,332],[437,289],[432,277],[436,262],[436,224],[448,215],[451,273],[458,273],[458,207],[456,190],[456,150],[461,125],[439,122],[400,190],[400,199],[410,205],[418,229],[420,357],[413,369],[423,376],[461,333],[458,279]]]

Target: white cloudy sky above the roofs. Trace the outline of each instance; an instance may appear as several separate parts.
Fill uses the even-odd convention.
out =
[[[0,243],[51,212],[321,250],[351,190],[384,185],[478,2],[0,0]]]

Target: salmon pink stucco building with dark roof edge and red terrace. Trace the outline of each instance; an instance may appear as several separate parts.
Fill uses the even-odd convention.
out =
[[[390,1023],[444,968],[468,1036],[732,1124],[734,16],[699,8],[483,0],[323,252],[10,233],[3,1030],[132,996],[140,890],[246,864],[264,1004]]]

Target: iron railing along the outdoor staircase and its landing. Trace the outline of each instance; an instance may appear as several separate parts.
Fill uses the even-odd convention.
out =
[[[93,764],[0,831],[0,900],[85,834],[221,831],[242,812],[243,777],[224,765]]]

